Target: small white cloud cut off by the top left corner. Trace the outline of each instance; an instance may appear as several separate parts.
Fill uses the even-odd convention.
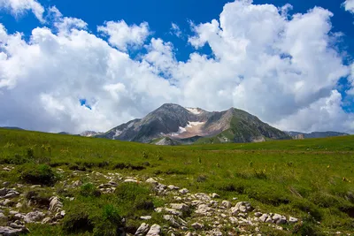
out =
[[[35,0],[0,0],[1,8],[11,11],[16,17],[24,14],[26,11],[32,11],[37,19],[42,23],[44,22],[44,8]]]

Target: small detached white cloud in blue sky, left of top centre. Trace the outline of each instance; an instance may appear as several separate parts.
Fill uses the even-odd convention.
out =
[[[104,27],[98,27],[99,32],[109,37],[108,42],[117,49],[127,51],[127,47],[142,46],[149,36],[149,24],[142,22],[139,26],[128,26],[124,20],[108,21]]]

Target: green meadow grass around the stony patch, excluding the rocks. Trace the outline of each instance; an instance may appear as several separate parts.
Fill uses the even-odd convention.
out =
[[[237,197],[240,201],[250,201],[264,212],[302,218],[304,225],[315,225],[306,226],[310,227],[307,229],[310,232],[313,228],[319,232],[352,232],[354,227],[354,136],[160,147],[0,129],[0,164],[14,166],[19,173],[28,165],[46,164],[65,171],[116,171],[139,176],[140,180],[161,177],[165,179],[164,184],[187,187],[194,193],[215,192],[228,200]],[[39,172],[50,174],[44,167]],[[4,181],[23,181],[19,177],[0,171],[0,179]],[[58,185],[55,184],[57,189]],[[95,227],[100,227],[95,223],[97,217],[106,214],[97,209],[107,208],[113,213],[116,210],[116,215],[130,216],[131,224],[137,225],[136,214],[150,212],[149,208],[144,209],[145,203],[153,202],[156,206],[158,201],[153,197],[145,199],[146,202],[127,200],[132,198],[125,199],[127,193],[123,190],[117,192],[114,199],[95,196],[94,191],[92,186],[82,187],[81,194],[80,191],[72,193],[77,196],[75,201],[65,202],[69,212],[78,202],[93,212],[89,216],[94,222],[89,225],[93,232]],[[147,188],[130,192],[139,195],[147,194],[146,191]],[[124,207],[127,205],[137,205],[137,208],[127,209]],[[157,220],[159,217],[156,216]],[[33,225],[30,230],[34,235],[56,235],[60,234],[61,227]],[[117,229],[112,226],[111,230]],[[306,229],[298,229],[298,233],[301,230]]]

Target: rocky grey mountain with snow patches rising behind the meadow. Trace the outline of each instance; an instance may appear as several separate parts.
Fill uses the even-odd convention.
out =
[[[159,145],[291,139],[288,133],[244,110],[230,108],[210,112],[172,103],[163,104],[144,118],[131,120],[95,137]]]

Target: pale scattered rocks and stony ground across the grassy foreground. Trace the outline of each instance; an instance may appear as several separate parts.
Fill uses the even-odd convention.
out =
[[[12,171],[12,167],[4,167]],[[135,235],[266,235],[267,227],[277,231],[286,231],[287,225],[299,224],[301,219],[292,216],[260,211],[250,202],[238,202],[235,196],[232,202],[223,200],[217,193],[190,193],[186,188],[164,185],[164,179],[122,176],[117,172],[101,173],[98,171],[63,171],[68,178],[59,184],[64,189],[81,187],[82,178],[89,179],[101,194],[112,194],[122,182],[149,183],[165,206],[154,209],[163,215],[165,224],[142,223]],[[60,199],[55,187],[51,197],[41,198],[35,194],[41,186],[29,186],[1,182],[0,189],[0,235],[18,235],[29,232],[27,224],[57,225],[65,217],[63,202],[73,201],[73,197]],[[150,220],[151,216],[141,216]],[[341,234],[341,232],[338,232]],[[131,235],[131,234],[127,234]]]

